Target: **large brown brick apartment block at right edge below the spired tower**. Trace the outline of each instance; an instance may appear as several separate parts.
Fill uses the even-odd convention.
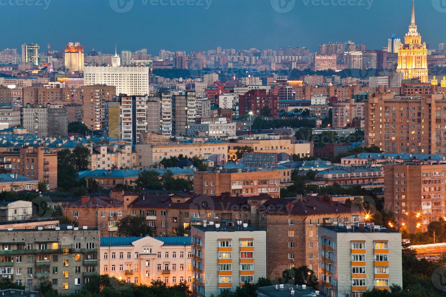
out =
[[[442,94],[370,94],[365,102],[365,145],[383,152],[446,155]]]

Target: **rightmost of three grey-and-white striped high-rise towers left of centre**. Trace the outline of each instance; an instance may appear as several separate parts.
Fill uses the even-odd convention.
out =
[[[189,124],[195,123],[197,119],[195,92],[178,92],[172,98],[173,134],[186,135]]]

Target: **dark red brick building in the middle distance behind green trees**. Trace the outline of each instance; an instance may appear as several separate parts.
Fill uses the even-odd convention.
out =
[[[253,118],[260,116],[264,107],[271,110],[273,118],[279,116],[279,95],[271,92],[267,93],[264,89],[249,90],[239,96],[239,115],[242,117],[252,111]]]

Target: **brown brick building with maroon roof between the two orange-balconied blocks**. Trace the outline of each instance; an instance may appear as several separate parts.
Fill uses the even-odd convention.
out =
[[[259,212],[259,228],[267,232],[268,277],[306,265],[318,270],[318,226],[363,222],[364,213],[330,196],[269,199]],[[279,260],[280,259],[280,260]]]

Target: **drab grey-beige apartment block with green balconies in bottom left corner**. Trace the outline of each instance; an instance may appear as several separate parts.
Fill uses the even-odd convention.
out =
[[[97,228],[8,228],[0,237],[0,274],[29,290],[50,282],[62,294],[79,293],[99,273]]]

